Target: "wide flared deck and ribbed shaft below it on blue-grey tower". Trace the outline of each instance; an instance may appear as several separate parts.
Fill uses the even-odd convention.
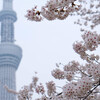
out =
[[[22,50],[12,43],[0,44],[0,100],[16,100],[16,95],[4,88],[16,90],[16,70],[22,58]]]

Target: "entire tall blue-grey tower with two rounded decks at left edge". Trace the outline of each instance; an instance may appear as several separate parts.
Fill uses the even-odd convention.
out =
[[[22,58],[22,49],[14,43],[14,22],[17,20],[13,10],[13,0],[3,0],[0,12],[0,100],[16,100],[14,94],[3,87],[7,85],[16,90],[16,70]]]

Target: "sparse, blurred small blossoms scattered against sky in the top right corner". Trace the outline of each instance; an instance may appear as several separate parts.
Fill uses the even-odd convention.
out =
[[[75,22],[79,25],[89,26],[94,29],[95,26],[100,24],[100,0],[79,0],[82,7],[77,15],[81,18]]]

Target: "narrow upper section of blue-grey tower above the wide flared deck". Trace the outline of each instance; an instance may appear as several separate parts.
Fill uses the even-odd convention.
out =
[[[3,10],[0,12],[1,42],[14,42],[14,22],[16,12],[12,9],[13,0],[3,0]]]

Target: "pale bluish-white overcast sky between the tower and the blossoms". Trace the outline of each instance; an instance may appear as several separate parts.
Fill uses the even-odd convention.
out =
[[[72,44],[81,39],[79,26],[74,25],[74,17],[64,21],[31,22],[24,16],[34,5],[45,5],[46,0],[14,0],[14,10],[18,20],[15,23],[15,39],[23,50],[23,58],[16,73],[17,90],[29,84],[37,71],[40,81],[45,83],[54,78],[51,70],[56,63],[67,64],[71,60],[78,61]],[[2,0],[0,0],[2,8]]]

